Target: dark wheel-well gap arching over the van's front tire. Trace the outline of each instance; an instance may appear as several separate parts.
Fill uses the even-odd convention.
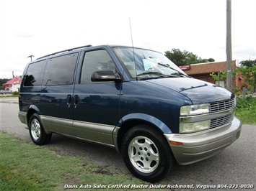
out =
[[[124,124],[122,124],[122,126],[120,126],[120,129],[118,131],[118,140],[117,140],[118,141],[118,152],[121,152],[122,141],[123,141],[123,137],[125,136],[126,132],[129,131],[129,129],[131,129],[133,126],[141,125],[141,124],[151,126],[152,128],[156,129],[160,133],[163,133],[157,126],[155,126],[154,124],[151,124],[147,121],[143,121],[143,120],[127,121]]]

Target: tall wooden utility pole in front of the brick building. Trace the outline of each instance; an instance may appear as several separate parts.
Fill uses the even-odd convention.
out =
[[[226,88],[232,90],[231,0],[226,0]]]

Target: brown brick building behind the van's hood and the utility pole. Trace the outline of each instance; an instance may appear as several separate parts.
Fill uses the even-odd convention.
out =
[[[232,70],[237,70],[237,61],[232,61]],[[216,85],[221,85],[225,87],[226,80],[214,81],[211,78],[210,74],[215,73],[218,75],[221,71],[226,71],[226,62],[206,62],[206,63],[199,63],[194,65],[187,65],[187,66],[180,66],[181,70],[187,75],[192,76],[193,78],[204,80],[209,83],[215,83]],[[244,83],[244,80],[241,78],[240,74],[237,74],[236,77],[233,77],[233,88],[237,87],[239,90],[242,88],[240,83]]]

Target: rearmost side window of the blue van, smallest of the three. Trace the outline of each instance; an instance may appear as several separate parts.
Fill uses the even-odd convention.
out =
[[[25,75],[24,86],[37,86],[42,84],[43,69],[45,67],[45,60],[34,62],[27,68]]]

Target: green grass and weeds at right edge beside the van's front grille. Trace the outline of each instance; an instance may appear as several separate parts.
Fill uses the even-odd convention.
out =
[[[256,125],[256,98],[237,98],[236,116],[241,118],[243,124]]]

